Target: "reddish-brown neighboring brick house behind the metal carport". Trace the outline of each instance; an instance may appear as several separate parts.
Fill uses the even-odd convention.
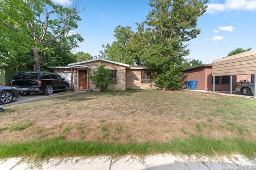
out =
[[[246,80],[251,82],[252,75],[233,75],[232,89],[235,90],[236,84],[240,81]],[[212,64],[203,64],[196,67],[185,69],[185,80],[196,80],[198,90],[212,91]],[[216,91],[229,91],[230,90],[230,77],[229,76],[216,76],[215,77],[215,90]]]

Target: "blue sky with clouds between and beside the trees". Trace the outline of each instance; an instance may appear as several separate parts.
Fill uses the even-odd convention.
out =
[[[68,0],[53,0],[65,5]],[[145,20],[150,7],[149,0],[81,0],[85,10],[82,21],[74,30],[81,33],[84,42],[74,52],[83,51],[99,55],[102,44],[112,43],[117,25],[131,26]],[[212,63],[225,57],[237,47],[256,49],[256,0],[209,0],[207,12],[198,19],[201,34],[191,40],[187,58]]]

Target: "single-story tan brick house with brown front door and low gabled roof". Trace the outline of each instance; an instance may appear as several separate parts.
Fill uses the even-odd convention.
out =
[[[95,90],[96,87],[90,81],[89,75],[92,69],[97,69],[100,64],[105,64],[111,70],[111,79],[116,79],[116,84],[110,88],[125,89],[156,89],[150,80],[147,67],[118,63],[102,58],[94,58],[83,62],[70,63],[68,66],[56,66],[54,72],[61,75],[74,84],[74,90]],[[73,83],[71,77],[73,74]]]

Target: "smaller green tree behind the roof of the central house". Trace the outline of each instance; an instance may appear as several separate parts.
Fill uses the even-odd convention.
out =
[[[121,25],[118,25],[114,30],[116,41],[111,45],[102,45],[103,51],[100,52],[100,58],[132,65],[136,61],[135,58],[132,57],[128,45],[133,35],[134,32],[131,30],[131,27],[121,27]]]

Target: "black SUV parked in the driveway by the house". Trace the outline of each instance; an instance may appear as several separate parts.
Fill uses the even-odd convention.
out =
[[[69,90],[69,83],[65,79],[62,79],[59,74],[50,72],[16,73],[11,83],[23,95],[38,91],[43,91],[44,95],[52,95],[53,91]]]

